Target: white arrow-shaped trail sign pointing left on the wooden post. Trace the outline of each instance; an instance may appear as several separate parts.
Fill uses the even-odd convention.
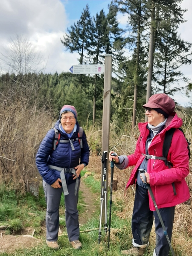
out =
[[[89,64],[89,65],[73,65],[70,67],[73,74],[103,74],[103,64]]]

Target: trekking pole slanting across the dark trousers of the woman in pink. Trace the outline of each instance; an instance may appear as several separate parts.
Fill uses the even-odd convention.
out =
[[[145,176],[145,172],[146,172],[146,171],[145,171],[144,169],[139,169],[139,171],[140,171],[140,174],[141,174],[143,180],[145,181],[145,185],[146,185],[147,188],[148,188],[148,192],[149,192],[149,194],[151,195],[152,201],[153,201],[154,206],[155,206],[155,209],[156,209],[156,211],[157,211],[157,215],[158,215],[158,217],[159,217],[159,219],[160,219],[161,226],[163,227],[163,232],[164,232],[164,234],[165,234],[165,236],[166,236],[166,239],[167,239],[167,241],[168,241],[170,250],[171,250],[171,252],[172,252],[172,256],[175,256],[174,250],[173,250],[172,245],[171,245],[171,242],[170,242],[170,240],[169,240],[169,236],[168,236],[168,234],[167,234],[167,230],[166,230],[165,225],[164,225],[164,223],[163,223],[163,219],[162,219],[161,214],[160,214],[160,211],[159,211],[159,209],[158,209],[158,207],[157,207],[157,204],[156,204],[156,201],[155,201],[155,198],[154,198],[152,189],[151,189],[151,187],[150,187],[150,184],[147,183],[146,176]]]

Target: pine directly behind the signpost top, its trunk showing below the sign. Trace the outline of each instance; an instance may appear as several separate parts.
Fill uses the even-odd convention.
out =
[[[88,51],[90,63],[104,63],[105,54],[113,54],[113,63],[123,58],[122,29],[119,28],[117,22],[117,11],[116,6],[111,3],[107,15],[101,10],[99,14],[96,14],[96,17],[93,17],[92,49]],[[115,69],[115,65],[113,65],[113,69]],[[103,82],[103,76],[95,75],[93,81],[93,124],[96,118],[97,101],[102,98]],[[99,106],[97,109],[100,110]]]

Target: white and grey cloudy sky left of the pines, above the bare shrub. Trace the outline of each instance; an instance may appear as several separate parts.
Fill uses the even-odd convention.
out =
[[[60,0],[0,0],[0,52],[11,38],[24,36],[42,56],[46,73],[69,71],[78,62],[78,55],[65,52],[60,41],[67,26]]]

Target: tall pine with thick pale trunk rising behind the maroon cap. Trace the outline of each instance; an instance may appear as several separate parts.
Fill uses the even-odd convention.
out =
[[[158,73],[160,74],[165,65],[163,68],[163,80],[161,78],[160,81],[157,76],[155,78],[158,84],[163,85],[163,91],[165,92],[166,83],[170,84],[181,78],[182,74],[178,72],[177,68],[191,61],[190,58],[188,58],[191,51],[191,44],[181,40],[180,36],[177,34],[179,24],[184,22],[183,14],[186,11],[181,9],[181,2],[182,0],[145,0],[145,6],[151,13],[151,39],[149,44],[146,101],[148,101],[148,98],[151,96],[151,81],[152,77],[155,77],[153,75],[154,73],[156,73],[156,75]],[[156,67],[153,72],[154,61],[156,62]],[[174,70],[174,72],[169,72],[169,69],[170,71]],[[169,81],[167,76],[170,76]],[[169,89],[166,93],[173,93],[175,91]],[[178,89],[176,88],[176,90]]]

